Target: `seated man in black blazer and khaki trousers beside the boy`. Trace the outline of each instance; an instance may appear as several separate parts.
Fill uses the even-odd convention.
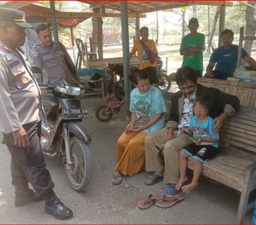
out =
[[[207,88],[197,84],[197,73],[188,66],[177,70],[175,80],[179,91],[172,96],[171,111],[166,127],[150,134],[145,139],[146,171],[153,171],[145,178],[146,185],[154,185],[163,180],[168,184],[160,190],[162,194],[175,195],[179,180],[179,151],[193,142],[180,134],[182,128],[189,127],[193,116],[195,99],[198,96],[210,95],[214,98],[213,111],[215,132],[218,134],[228,116],[239,108],[239,98],[222,93],[217,88]],[[164,156],[164,157],[163,157]]]

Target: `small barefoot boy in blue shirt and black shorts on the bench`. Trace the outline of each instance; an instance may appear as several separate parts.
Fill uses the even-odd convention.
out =
[[[209,116],[209,112],[214,103],[214,99],[209,95],[199,96],[194,106],[194,116],[190,120],[189,129],[182,128],[183,132],[193,134],[196,138],[194,143],[181,149],[179,153],[180,180],[175,186],[188,193],[198,185],[199,177],[202,172],[202,163],[213,157],[218,152],[219,135],[213,129],[215,124]],[[193,180],[190,184],[182,186],[187,180],[187,157],[193,156]]]

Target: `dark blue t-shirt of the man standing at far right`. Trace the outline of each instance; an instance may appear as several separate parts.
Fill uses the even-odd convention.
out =
[[[242,48],[242,59],[246,57],[248,53]],[[215,70],[221,72],[225,75],[232,75],[237,67],[238,58],[238,46],[232,45],[230,48],[225,49],[223,46],[215,49],[213,51],[210,62],[217,63],[215,65]]]

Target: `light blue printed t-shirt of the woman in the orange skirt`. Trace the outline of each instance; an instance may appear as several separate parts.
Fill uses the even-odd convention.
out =
[[[130,111],[137,114],[136,125],[145,125],[158,113],[164,113],[153,126],[143,130],[148,134],[160,130],[165,126],[165,112],[167,111],[162,91],[150,86],[145,94],[141,94],[139,88],[134,88],[131,92]]]

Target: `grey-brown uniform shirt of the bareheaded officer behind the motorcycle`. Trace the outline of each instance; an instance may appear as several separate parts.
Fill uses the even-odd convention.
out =
[[[54,42],[52,46],[37,44],[33,46],[32,51],[35,65],[41,71],[43,69],[46,71],[51,82],[57,82],[65,78],[73,80],[73,75],[68,68],[65,53],[62,51],[60,44]],[[43,73],[37,73],[35,78],[39,84],[43,84],[43,80],[46,79],[43,77]]]

